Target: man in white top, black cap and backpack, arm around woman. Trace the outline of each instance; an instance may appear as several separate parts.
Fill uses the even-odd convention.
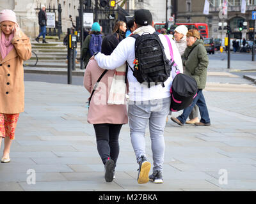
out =
[[[113,53],[106,56],[95,53],[95,59],[104,69],[115,69],[127,61],[127,80],[129,82],[129,127],[138,169],[138,183],[148,180],[163,183],[164,127],[170,108],[170,87],[175,77],[173,60],[183,72],[182,61],[175,42],[163,34],[156,33],[152,27],[149,10],[134,13],[135,31],[122,40]],[[171,48],[173,59],[171,59]],[[172,63],[172,65],[174,62]],[[147,122],[150,130],[153,156],[153,172],[148,176],[151,164],[147,161],[145,129]]]

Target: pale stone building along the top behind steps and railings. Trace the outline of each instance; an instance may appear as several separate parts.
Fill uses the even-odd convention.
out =
[[[95,8],[95,0],[92,0],[92,9]],[[119,5],[123,1],[116,1]],[[98,0],[100,3],[100,0]],[[29,37],[35,38],[39,33],[37,8],[44,4],[46,8],[58,8],[61,6],[61,26],[63,33],[68,27],[72,27],[70,15],[76,24],[76,17],[79,16],[79,0],[0,0],[0,10],[10,9],[15,11],[19,25]],[[116,6],[117,7],[117,6]],[[100,8],[100,6],[99,6]],[[134,15],[134,10],[140,8],[148,9],[152,12],[154,22],[166,22],[171,16],[171,0],[127,0],[122,7],[130,16]],[[101,8],[102,9],[102,8]],[[166,13],[167,12],[167,13]],[[95,13],[93,11],[93,13]],[[94,14],[95,15],[95,14]],[[58,11],[56,11],[56,21]]]

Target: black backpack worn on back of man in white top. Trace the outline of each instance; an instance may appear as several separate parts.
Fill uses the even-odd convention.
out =
[[[164,47],[159,38],[159,33],[153,34],[132,34],[135,38],[135,60],[131,68],[133,76],[140,82],[147,82],[148,88],[151,85],[164,82],[170,77],[172,65],[166,58]],[[153,83],[152,83],[153,82]]]

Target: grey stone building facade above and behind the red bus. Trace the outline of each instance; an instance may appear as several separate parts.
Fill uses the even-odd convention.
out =
[[[177,1],[177,22],[206,22],[209,37],[221,39],[227,33],[223,24],[229,22],[231,38],[252,40],[252,11],[256,10],[256,0],[246,0],[246,13],[241,13],[241,0],[227,0],[227,15],[223,15],[224,0],[209,0],[209,3],[209,15],[204,15],[205,0]],[[247,25],[243,25],[243,30],[239,31],[239,25],[244,22]]]

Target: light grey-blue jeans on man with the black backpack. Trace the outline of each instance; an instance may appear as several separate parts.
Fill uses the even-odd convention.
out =
[[[129,103],[128,116],[131,131],[131,142],[137,162],[145,152],[145,129],[147,122],[150,131],[151,149],[153,155],[153,171],[163,171],[164,163],[164,128],[166,117],[170,110],[170,98],[134,101]]]

